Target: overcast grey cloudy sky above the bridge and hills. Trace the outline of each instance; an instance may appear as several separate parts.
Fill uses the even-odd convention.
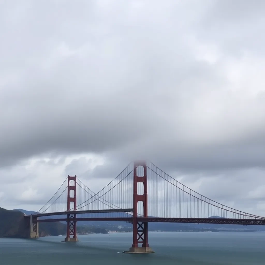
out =
[[[0,1],[0,207],[148,159],[265,216],[265,1]]]

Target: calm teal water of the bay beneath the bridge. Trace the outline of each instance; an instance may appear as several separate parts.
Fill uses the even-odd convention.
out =
[[[265,264],[265,232],[149,233],[153,254],[123,254],[132,244],[131,233],[80,235],[77,243],[63,239],[0,238],[0,264]]]

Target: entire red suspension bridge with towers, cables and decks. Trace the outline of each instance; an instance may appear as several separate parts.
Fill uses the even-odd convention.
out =
[[[265,225],[265,218],[213,201],[178,182],[151,162],[134,162],[99,192],[69,176],[35,214],[26,215],[29,237],[40,222],[67,222],[66,242],[76,242],[78,221],[124,221],[133,244],[124,253],[152,253],[149,222]],[[142,245],[140,245],[142,244]]]

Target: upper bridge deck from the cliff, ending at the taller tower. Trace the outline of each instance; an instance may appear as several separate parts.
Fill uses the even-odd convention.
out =
[[[33,217],[43,217],[43,216],[52,216],[52,215],[67,215],[67,214],[95,214],[95,213],[128,213],[133,212],[133,209],[107,209],[107,210],[83,210],[83,211],[63,211],[55,213],[37,213],[33,214]],[[30,218],[30,215],[25,215],[24,218]],[[50,219],[47,219],[50,220]],[[52,219],[57,220],[57,219]],[[48,222],[48,221],[47,221]],[[57,222],[57,221],[54,221]]]

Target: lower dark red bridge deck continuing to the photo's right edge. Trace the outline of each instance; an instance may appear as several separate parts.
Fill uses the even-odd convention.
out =
[[[119,221],[133,222],[132,217],[111,217],[111,218],[76,218],[75,221]],[[157,223],[196,223],[196,224],[241,224],[264,226],[265,219],[228,219],[228,218],[161,218],[161,217],[138,217],[138,222],[157,222]],[[67,218],[42,219],[43,222],[67,222]]]

